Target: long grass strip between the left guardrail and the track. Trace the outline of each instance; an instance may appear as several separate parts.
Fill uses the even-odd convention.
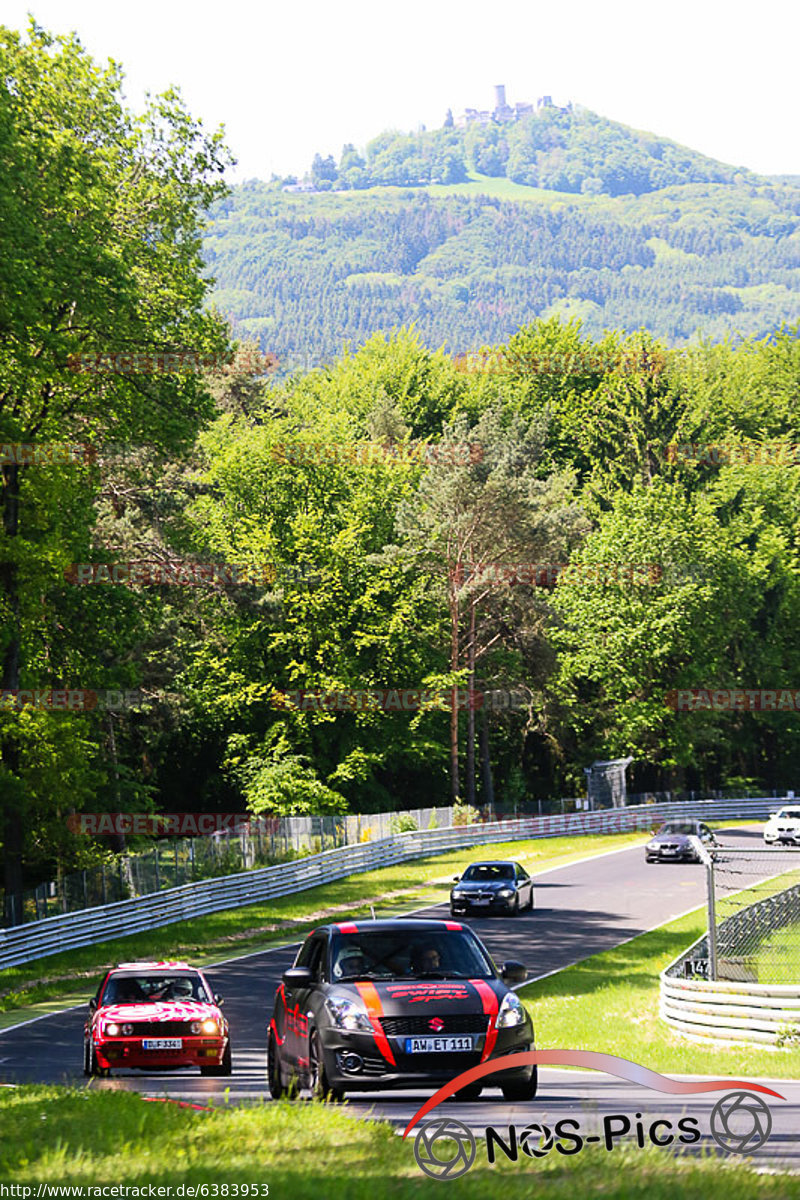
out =
[[[573,835],[497,842],[417,858],[396,866],[348,875],[332,883],[242,908],[175,922],[0,971],[0,1028],[29,1016],[86,1000],[97,977],[116,962],[140,959],[188,959],[205,966],[302,937],[320,920],[337,914],[392,916],[447,896],[450,880],[479,857],[516,858],[531,874],[608,850],[644,842],[645,834]]]

